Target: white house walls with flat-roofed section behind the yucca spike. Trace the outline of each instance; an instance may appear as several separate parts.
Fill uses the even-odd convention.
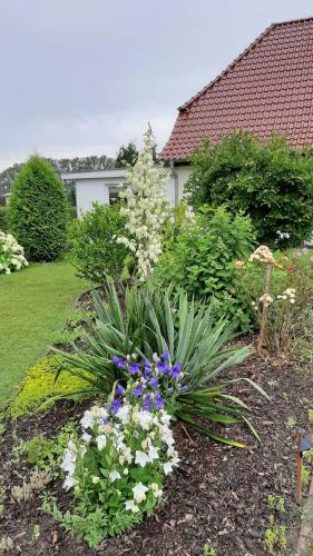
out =
[[[92,202],[111,205],[118,200],[120,188],[127,186],[125,170],[110,168],[105,170],[63,172],[61,179],[75,183],[77,215],[91,209]],[[170,178],[166,185],[167,199],[172,206],[177,205],[177,189],[175,179]]]

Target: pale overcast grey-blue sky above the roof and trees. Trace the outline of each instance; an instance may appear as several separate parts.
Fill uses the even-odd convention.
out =
[[[0,0],[0,169],[30,153],[159,151],[177,107],[312,0]]]

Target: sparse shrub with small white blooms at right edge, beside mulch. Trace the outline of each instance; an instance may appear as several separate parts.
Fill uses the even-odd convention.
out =
[[[292,351],[297,338],[306,335],[305,322],[313,300],[313,256],[309,249],[273,254],[274,266],[264,299],[264,265],[251,257],[237,268],[239,287],[261,321],[264,301],[264,347],[276,355]],[[266,268],[266,265],[265,265]],[[311,326],[310,326],[311,328]]]

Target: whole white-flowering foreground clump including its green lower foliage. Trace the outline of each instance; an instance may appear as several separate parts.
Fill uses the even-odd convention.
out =
[[[129,365],[130,377],[137,366]],[[68,443],[61,464],[63,486],[74,488],[79,503],[76,514],[61,520],[90,546],[150,514],[162,499],[165,476],[178,464],[170,415],[153,378],[147,379],[145,394],[138,378],[126,388],[116,384],[106,406],[87,410],[81,436]]]

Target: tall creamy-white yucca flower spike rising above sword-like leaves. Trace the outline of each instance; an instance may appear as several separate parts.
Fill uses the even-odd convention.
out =
[[[144,149],[133,168],[126,171],[129,186],[120,197],[126,207],[120,214],[126,217],[126,229],[130,239],[117,238],[135,255],[138,275],[144,281],[151,272],[162,254],[162,226],[168,217],[165,185],[169,172],[154,161],[155,140],[150,130],[144,136]]]

